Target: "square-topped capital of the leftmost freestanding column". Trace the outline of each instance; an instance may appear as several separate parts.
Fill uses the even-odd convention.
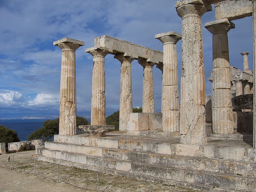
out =
[[[76,51],[78,47],[84,45],[84,42],[65,37],[63,39],[54,41],[53,45],[60,47],[62,51]]]

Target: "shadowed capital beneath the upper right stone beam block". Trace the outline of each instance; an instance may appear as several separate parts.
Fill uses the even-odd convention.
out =
[[[227,34],[230,29],[235,28],[235,24],[228,19],[220,19],[208,22],[204,27],[212,33],[212,35],[225,33]]]

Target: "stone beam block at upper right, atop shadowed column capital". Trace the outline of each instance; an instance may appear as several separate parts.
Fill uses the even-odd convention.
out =
[[[252,16],[252,1],[226,0],[215,5],[215,20],[236,20]]]

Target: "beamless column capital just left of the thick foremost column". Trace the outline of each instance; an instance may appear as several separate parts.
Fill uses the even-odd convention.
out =
[[[155,38],[159,39],[163,44],[176,44],[181,39],[181,35],[174,31],[170,31],[156,34]]]

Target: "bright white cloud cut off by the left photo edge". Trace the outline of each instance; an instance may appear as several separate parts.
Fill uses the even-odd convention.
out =
[[[5,104],[7,106],[20,102],[21,99],[22,99],[22,94],[17,91],[0,93],[0,103]]]

